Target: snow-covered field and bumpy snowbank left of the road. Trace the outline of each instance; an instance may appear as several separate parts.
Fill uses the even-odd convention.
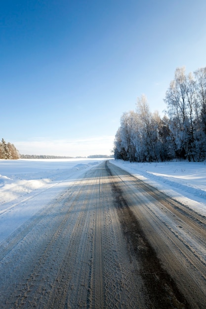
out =
[[[0,159],[0,242],[102,160]]]

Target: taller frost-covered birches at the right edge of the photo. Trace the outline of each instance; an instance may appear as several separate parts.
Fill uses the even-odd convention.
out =
[[[175,154],[189,161],[206,155],[206,69],[195,77],[177,68],[165,97]]]

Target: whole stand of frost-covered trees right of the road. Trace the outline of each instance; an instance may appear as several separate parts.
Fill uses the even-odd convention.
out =
[[[130,162],[206,159],[206,68],[175,70],[165,94],[166,111],[151,113],[145,95],[125,112],[115,136],[116,159]]]

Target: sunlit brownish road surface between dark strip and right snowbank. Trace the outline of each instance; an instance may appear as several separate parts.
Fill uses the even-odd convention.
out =
[[[132,216],[144,231],[142,239],[149,240],[163,264],[161,272],[169,274],[175,282],[174,289],[177,287],[187,299],[186,308],[205,309],[206,230],[202,227],[205,218],[196,213],[193,215],[191,210],[187,213],[187,207],[181,203],[127,172],[109,166],[116,175],[115,184],[119,184],[118,189],[122,191]],[[118,198],[121,195],[118,194]],[[168,297],[171,297],[170,293]]]

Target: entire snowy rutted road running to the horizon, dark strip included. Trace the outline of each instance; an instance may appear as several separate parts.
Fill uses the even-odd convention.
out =
[[[1,243],[11,308],[206,308],[206,218],[110,162]]]

